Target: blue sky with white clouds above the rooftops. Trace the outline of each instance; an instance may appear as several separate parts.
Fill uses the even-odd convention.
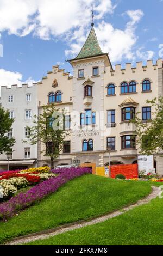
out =
[[[0,0],[0,86],[39,81],[58,63],[72,72],[65,59],[90,31],[92,4],[97,38],[113,65],[161,57],[161,0]]]

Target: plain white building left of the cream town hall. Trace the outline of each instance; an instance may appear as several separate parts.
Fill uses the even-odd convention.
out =
[[[10,170],[37,166],[37,145],[22,142],[29,133],[27,126],[33,126],[33,116],[37,115],[37,84],[33,84],[33,87],[28,84],[22,84],[22,87],[1,87],[1,104],[5,109],[9,109],[10,117],[15,119],[8,133],[9,137],[16,139]],[[8,169],[5,154],[0,155],[0,169]]]

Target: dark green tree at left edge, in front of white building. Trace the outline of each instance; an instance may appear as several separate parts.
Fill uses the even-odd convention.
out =
[[[0,154],[12,152],[15,139],[9,138],[7,133],[10,131],[13,123],[14,119],[9,117],[9,111],[0,107]]]

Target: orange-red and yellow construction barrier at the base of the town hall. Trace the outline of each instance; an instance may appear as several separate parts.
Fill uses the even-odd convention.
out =
[[[108,177],[109,166],[96,167],[96,175]],[[126,179],[138,178],[138,165],[137,164],[121,164],[117,166],[111,166],[111,178],[115,179],[117,174],[123,174]]]

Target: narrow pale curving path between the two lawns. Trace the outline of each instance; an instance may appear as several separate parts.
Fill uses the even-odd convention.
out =
[[[17,237],[16,239],[10,240],[5,245],[19,245],[19,244],[22,244],[22,243],[32,242],[32,241],[39,240],[39,239],[42,240],[42,239],[46,239],[46,238],[51,237],[51,236],[55,236],[55,235],[58,235],[58,234],[61,234],[61,233],[65,233],[67,231],[83,228],[83,227],[93,225],[93,224],[96,224],[96,223],[99,223],[99,222],[104,222],[106,220],[109,220],[110,218],[114,218],[116,216],[124,214],[124,212],[127,212],[127,211],[129,211],[129,210],[131,210],[131,209],[133,209],[133,208],[135,208],[139,205],[147,204],[152,199],[158,197],[158,195],[160,193],[160,188],[152,186],[152,190],[153,190],[152,193],[149,194],[146,198],[139,200],[134,205],[124,207],[119,211],[112,212],[112,213],[104,215],[102,217],[94,218],[93,220],[90,220],[90,221],[80,221],[80,222],[76,222],[76,223],[67,224],[67,225],[61,226],[59,228],[42,231],[40,233],[35,233],[35,234],[27,235],[27,236]]]

